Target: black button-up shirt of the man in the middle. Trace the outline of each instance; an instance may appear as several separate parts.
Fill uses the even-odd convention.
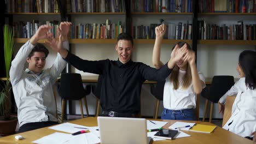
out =
[[[143,82],[165,80],[171,73],[167,64],[157,70],[141,62],[83,60],[70,52],[65,60],[78,70],[103,76],[100,103],[106,111],[140,112]]]

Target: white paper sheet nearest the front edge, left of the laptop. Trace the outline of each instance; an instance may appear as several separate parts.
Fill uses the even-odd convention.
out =
[[[33,143],[40,143],[40,144],[46,144],[46,143],[56,143],[61,144],[68,140],[72,139],[71,134],[65,134],[65,133],[53,133],[47,136],[42,137],[41,139],[38,139],[36,141],[32,141]]]

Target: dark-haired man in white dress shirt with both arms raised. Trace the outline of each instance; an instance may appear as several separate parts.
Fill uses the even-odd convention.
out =
[[[68,49],[68,32],[71,23],[61,22],[58,28],[61,34],[59,40]],[[59,53],[53,65],[43,70],[48,49],[37,43],[41,39],[51,39],[51,26],[40,26],[33,37],[19,50],[10,68],[10,82],[18,107],[19,132],[34,130],[58,124],[55,117],[55,102],[53,84],[67,62]],[[25,63],[28,68],[24,70]]]

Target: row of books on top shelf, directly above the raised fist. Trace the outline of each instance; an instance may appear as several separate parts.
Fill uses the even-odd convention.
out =
[[[132,12],[192,13],[192,0],[131,0]]]

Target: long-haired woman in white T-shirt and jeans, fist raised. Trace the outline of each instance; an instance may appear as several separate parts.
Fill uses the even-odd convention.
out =
[[[155,28],[155,45],[153,50],[153,65],[159,69],[164,65],[160,61],[161,41],[166,26],[164,24]],[[184,42],[179,42],[172,50],[171,58],[183,50],[182,57],[176,59],[171,74],[166,78],[164,87],[164,110],[161,119],[194,120],[196,107],[196,94],[201,93],[205,87],[205,78],[197,72],[195,52]]]

